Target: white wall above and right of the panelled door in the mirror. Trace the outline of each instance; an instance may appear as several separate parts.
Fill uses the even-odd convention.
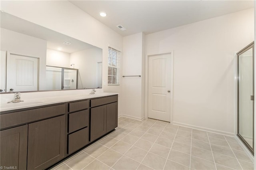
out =
[[[46,40],[1,28],[1,50],[39,58],[39,89],[45,90]],[[8,78],[8,77],[7,77]],[[8,92],[8,90],[7,90]]]

